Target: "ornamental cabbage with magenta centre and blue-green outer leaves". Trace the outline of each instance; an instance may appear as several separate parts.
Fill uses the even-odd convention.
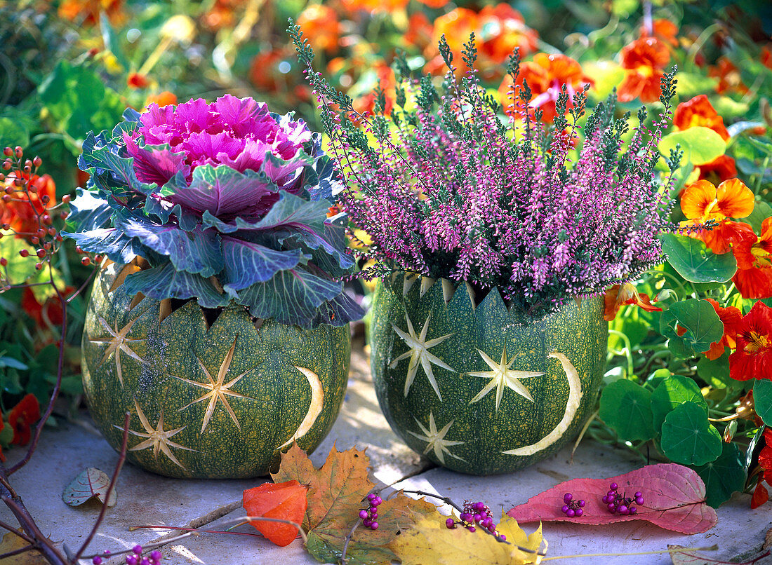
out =
[[[303,120],[251,98],[128,109],[83,143],[79,166],[91,178],[69,237],[111,261],[147,260],[126,278],[128,294],[345,325],[364,312],[339,281],[354,260],[345,214],[327,218],[341,187],[320,145]]]

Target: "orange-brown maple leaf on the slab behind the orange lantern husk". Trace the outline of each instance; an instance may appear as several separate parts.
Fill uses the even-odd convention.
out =
[[[335,447],[320,469],[315,469],[306,453],[296,444],[282,454],[274,481],[297,480],[308,486],[308,507],[303,530],[308,534],[306,549],[323,563],[340,561],[346,536],[367,507],[363,499],[373,489],[367,476],[369,459],[364,451]],[[378,506],[378,530],[360,524],[346,551],[348,565],[391,563],[395,556],[388,544],[415,522],[415,516],[437,513],[435,505],[398,493]]]

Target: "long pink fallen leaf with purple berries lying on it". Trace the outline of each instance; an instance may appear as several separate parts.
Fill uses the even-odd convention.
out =
[[[633,516],[611,514],[601,500],[608,486],[617,483],[618,492],[632,496],[643,493],[645,503]],[[571,493],[574,500],[584,499],[584,514],[569,518],[561,512],[563,496]],[[705,503],[705,483],[699,475],[682,465],[660,463],[636,469],[608,479],[573,479],[553,486],[528,502],[507,512],[519,523],[575,522],[597,526],[629,520],[646,520],[655,526],[675,532],[703,533],[716,525],[716,511]]]

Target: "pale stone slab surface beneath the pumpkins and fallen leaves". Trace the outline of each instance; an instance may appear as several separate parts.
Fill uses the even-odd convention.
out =
[[[577,450],[573,464],[568,461],[570,449],[567,448],[530,469],[505,476],[466,476],[431,468],[425,459],[411,452],[389,429],[378,409],[367,360],[361,348],[354,350],[349,389],[340,418],[330,436],[311,456],[315,465],[320,466],[334,443],[341,450],[351,446],[360,449],[367,447],[375,479],[382,484],[397,483],[396,488],[426,490],[452,496],[460,502],[464,499],[481,499],[497,510],[509,510],[527,501],[530,496],[566,479],[615,476],[636,469],[642,463],[624,450],[586,441]],[[9,463],[12,464],[22,456],[22,451],[13,449],[8,455]],[[99,513],[99,506],[86,503],[78,508],[70,508],[60,498],[62,490],[86,467],[98,467],[111,474],[116,462],[117,453],[107,445],[97,430],[90,429],[85,420],[82,425],[66,424],[60,429],[46,430],[32,462],[13,476],[12,483],[25,499],[32,515],[39,520],[43,532],[49,534],[52,540],[67,543],[75,549],[90,531]],[[241,508],[242,490],[261,482],[262,479],[167,479],[127,464],[117,485],[118,504],[108,511],[107,519],[91,548],[95,552],[117,550],[131,547],[134,543],[147,544],[175,536],[175,533],[168,530],[128,530],[129,526],[138,524],[185,526],[201,530],[225,529],[245,515]],[[747,495],[736,495],[729,503],[721,506],[718,514],[718,526],[697,536],[682,536],[639,522],[613,526],[548,523],[544,525],[543,531],[550,544],[550,557],[662,550],[669,543],[689,547],[716,543],[720,549],[714,557],[730,560],[753,552],[763,542],[764,533],[772,527],[769,507],[750,510]],[[0,520],[13,519],[8,510],[2,508]],[[531,531],[535,526],[527,524],[525,528]],[[254,530],[251,526],[241,526],[236,531]],[[257,537],[197,533],[184,540],[172,541],[161,549],[164,553],[163,563],[166,565],[316,563],[303,550],[300,540],[289,547],[279,548]],[[591,563],[593,559],[626,565],[671,563],[666,555],[574,557],[564,563],[582,565]],[[110,565],[121,562],[122,559],[115,558]]]

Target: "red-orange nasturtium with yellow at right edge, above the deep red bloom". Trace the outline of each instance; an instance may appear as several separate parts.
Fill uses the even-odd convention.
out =
[[[761,235],[732,246],[737,272],[732,281],[743,298],[772,298],[772,218],[761,224]]]

